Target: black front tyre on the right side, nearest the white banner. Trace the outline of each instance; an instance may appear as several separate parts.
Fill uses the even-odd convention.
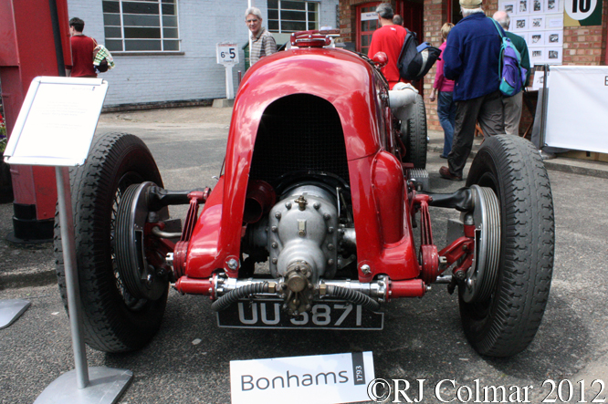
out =
[[[484,141],[466,185],[496,192],[500,211],[498,279],[489,297],[466,303],[466,337],[482,355],[508,357],[532,341],[549,298],[555,225],[550,182],[538,151],[516,136]]]

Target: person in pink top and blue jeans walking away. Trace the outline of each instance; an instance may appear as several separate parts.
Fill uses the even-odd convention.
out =
[[[444,38],[444,43],[441,44],[439,49],[443,54],[446,48],[447,35],[450,33],[454,24],[446,23],[441,27],[441,36]],[[444,76],[444,61],[440,58],[437,60],[437,71],[435,73],[435,83],[433,83],[433,91],[431,91],[431,101],[435,101],[437,92],[439,96],[437,98],[437,115],[439,116],[439,123],[444,129],[444,151],[441,153],[443,159],[447,159],[447,153],[452,150],[452,139],[454,138],[454,126],[456,121],[456,103],[452,99],[454,92],[454,80],[448,80]]]

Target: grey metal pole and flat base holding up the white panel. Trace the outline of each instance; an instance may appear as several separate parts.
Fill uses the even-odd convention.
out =
[[[66,272],[69,327],[76,368],[55,379],[34,404],[115,403],[133,377],[131,370],[106,367],[89,368],[82,331],[79,277],[76,271],[76,248],[68,167],[56,167],[61,245]]]

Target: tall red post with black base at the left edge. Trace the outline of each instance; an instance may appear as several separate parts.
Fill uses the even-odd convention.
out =
[[[31,81],[65,76],[65,70],[59,71],[61,62],[71,65],[67,0],[0,0],[0,80],[9,138]],[[16,243],[50,241],[55,172],[51,167],[15,166],[11,174],[14,232],[7,238]]]

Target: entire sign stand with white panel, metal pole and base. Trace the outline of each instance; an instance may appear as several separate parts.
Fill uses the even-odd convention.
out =
[[[100,78],[35,78],[6,145],[5,161],[54,166],[57,174],[75,369],[48,385],[35,404],[115,403],[133,377],[131,370],[88,367],[76,270],[68,167],[86,160],[107,91],[108,83]]]

